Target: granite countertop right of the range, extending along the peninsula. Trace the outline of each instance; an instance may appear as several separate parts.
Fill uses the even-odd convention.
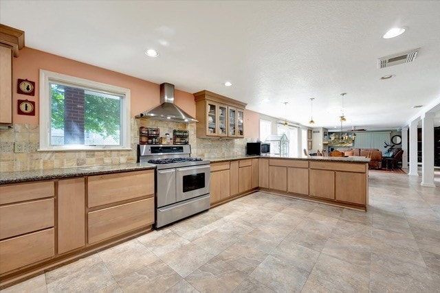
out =
[[[349,157],[337,157],[337,156],[275,156],[275,155],[265,155],[265,156],[218,156],[215,158],[204,157],[203,159],[210,160],[211,163],[219,163],[225,161],[236,161],[243,159],[256,159],[256,158],[269,158],[269,159],[285,159],[285,160],[303,160],[303,161],[327,161],[327,162],[343,162],[343,163],[369,163],[369,158],[364,158],[363,156],[349,156]]]

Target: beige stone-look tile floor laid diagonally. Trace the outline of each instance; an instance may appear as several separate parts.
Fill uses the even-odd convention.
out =
[[[440,188],[370,172],[367,213],[257,192],[4,292],[440,292]]]

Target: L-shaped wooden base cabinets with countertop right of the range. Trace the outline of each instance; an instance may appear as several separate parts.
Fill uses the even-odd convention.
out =
[[[261,190],[364,211],[368,207],[370,159],[229,156],[210,161],[211,206]]]

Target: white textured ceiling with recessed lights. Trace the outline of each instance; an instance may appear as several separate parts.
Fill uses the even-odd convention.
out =
[[[27,47],[308,125],[404,126],[440,97],[440,1],[5,1]],[[407,32],[384,39],[391,27]],[[147,48],[159,51],[148,58]],[[415,62],[377,58],[421,47]],[[393,74],[391,80],[380,80]],[[223,82],[232,82],[225,87]],[[270,102],[263,102],[270,99]]]

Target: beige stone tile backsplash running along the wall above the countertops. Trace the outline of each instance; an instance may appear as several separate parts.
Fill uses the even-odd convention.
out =
[[[173,130],[189,130],[192,156],[214,158],[245,154],[250,139],[201,139],[196,137],[195,124],[179,124],[153,119],[131,119],[131,150],[56,151],[39,152],[39,126],[14,124],[0,129],[0,172],[52,169],[84,165],[135,163],[140,126],[159,128],[160,135]],[[15,143],[23,145],[23,152],[14,152]]]

